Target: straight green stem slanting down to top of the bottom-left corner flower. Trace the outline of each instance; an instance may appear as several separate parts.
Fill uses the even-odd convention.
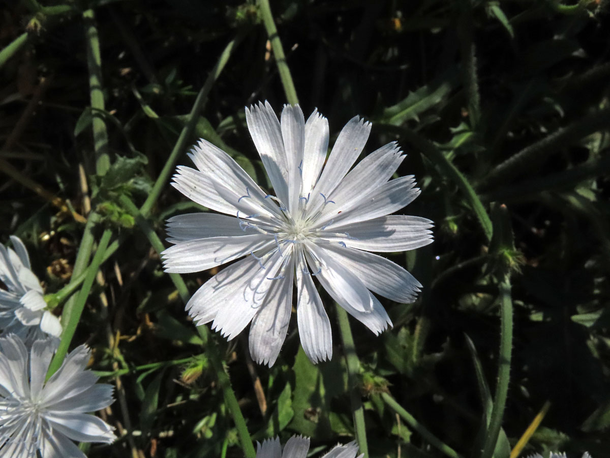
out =
[[[96,251],[95,256],[93,256],[93,261],[91,261],[92,269],[87,272],[87,277],[85,277],[81,292],[76,298],[74,307],[71,308],[71,314],[68,319],[68,322],[64,324],[62,331],[62,339],[59,343],[59,347],[57,348],[55,356],[51,360],[49,370],[46,374],[47,380],[54,373],[56,373],[57,369],[60,368],[63,362],[63,358],[68,352],[68,347],[70,347],[70,342],[72,341],[74,332],[76,331],[76,326],[78,325],[81,319],[82,311],[85,308],[85,302],[87,302],[87,297],[89,296],[91,287],[93,286],[93,282],[95,282],[95,276],[98,273],[99,266],[102,263],[102,259],[104,258],[104,253],[106,253],[108,243],[110,242],[110,236],[112,236],[112,231],[110,231],[109,229],[105,230],[104,234],[102,234],[102,238],[99,241],[98,250]]]

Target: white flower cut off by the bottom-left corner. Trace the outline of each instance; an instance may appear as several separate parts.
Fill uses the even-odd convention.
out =
[[[112,404],[112,385],[96,384],[85,370],[90,352],[81,345],[45,383],[58,339],[37,340],[28,351],[16,335],[0,338],[0,456],[85,458],[72,442],[115,440],[112,427],[86,412]],[[29,353],[29,354],[28,354]]]

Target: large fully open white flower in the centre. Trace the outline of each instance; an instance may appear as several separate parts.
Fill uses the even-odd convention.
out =
[[[404,159],[390,143],[365,157],[371,124],[354,117],[326,162],[328,121],[307,122],[284,106],[281,123],[265,103],[246,108],[254,145],[273,184],[268,195],[224,151],[199,140],[189,154],[199,170],[179,166],[173,186],[196,203],[231,216],[196,213],[168,220],[167,272],[199,272],[248,256],[206,282],[188,301],[197,324],[229,340],[250,327],[250,353],[273,365],[287,332],[296,283],[301,344],[316,363],[332,357],[331,324],[312,281],[371,331],[391,325],[371,291],[413,302],[422,286],[403,267],[369,251],[411,250],[432,241],[432,222],[387,216],[419,194],[413,176],[390,180]],[[388,181],[390,180],[390,181]]]

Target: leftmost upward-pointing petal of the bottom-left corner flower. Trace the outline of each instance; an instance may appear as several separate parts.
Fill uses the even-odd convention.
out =
[[[0,338],[0,394],[25,398],[29,393],[26,346],[16,335]]]

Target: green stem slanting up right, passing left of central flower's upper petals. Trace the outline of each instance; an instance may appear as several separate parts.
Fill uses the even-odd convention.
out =
[[[231,57],[233,49],[241,40],[242,35],[238,35],[231,40],[228,45],[226,45],[224,51],[220,54],[220,57],[218,57],[216,65],[214,65],[212,71],[210,71],[210,74],[207,76],[206,82],[199,91],[199,94],[195,99],[195,104],[193,104],[193,108],[190,111],[188,122],[185,124],[184,128],[182,128],[178,141],[176,141],[173,150],[171,150],[170,157],[168,157],[167,161],[165,161],[163,170],[161,170],[161,173],[159,173],[157,181],[155,181],[154,186],[152,186],[152,191],[140,209],[144,217],[147,217],[151,213],[152,206],[154,206],[155,202],[157,202],[157,198],[159,198],[161,191],[163,191],[163,188],[167,184],[167,180],[170,178],[170,174],[174,170],[174,166],[176,165],[179,154],[184,152],[187,142],[190,141],[193,131],[195,131],[195,126],[199,120],[199,113],[203,110],[206,104],[207,96],[209,95],[210,90],[212,90],[213,84],[218,79],[218,76],[220,76],[221,71],[223,71],[229,57]]]

